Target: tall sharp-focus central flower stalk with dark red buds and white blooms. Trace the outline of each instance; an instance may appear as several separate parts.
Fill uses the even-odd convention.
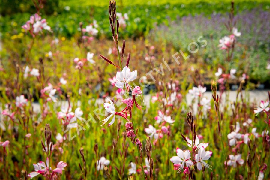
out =
[[[129,92],[130,90],[132,91],[132,98],[127,98],[123,100],[125,104],[127,104],[127,107],[125,107],[124,110],[121,112],[116,112],[115,107],[112,101],[109,103],[105,103],[104,107],[107,110],[107,112],[111,113],[109,117],[103,120],[103,125],[111,118],[113,117],[113,120],[110,122],[109,126],[112,125],[115,121],[115,115],[122,116],[125,118],[128,122],[125,124],[126,130],[127,130],[127,137],[131,138],[131,141],[133,144],[136,143],[137,146],[137,152],[140,156],[140,165],[141,169],[143,172],[143,176],[146,179],[146,175],[144,172],[143,168],[143,157],[142,157],[142,143],[138,138],[138,129],[135,128],[134,121],[132,119],[132,108],[135,104],[135,106],[141,110],[141,106],[137,103],[136,98],[137,97],[142,97],[142,91],[140,90],[139,86],[132,87],[129,82],[133,81],[137,77],[137,71],[130,71],[128,65],[130,61],[130,54],[128,53],[126,65],[124,68],[122,68],[122,61],[124,57],[124,52],[125,52],[125,40],[123,41],[123,46],[122,46],[122,55],[120,55],[119,52],[119,43],[118,43],[118,35],[119,35],[119,21],[116,19],[116,1],[112,0],[110,1],[110,6],[109,6],[109,19],[110,19],[110,26],[113,34],[113,41],[115,42],[117,53],[118,53],[118,58],[119,58],[119,66],[114,64],[112,61],[110,61],[108,58],[104,57],[103,55],[100,55],[101,58],[103,58],[105,61],[107,61],[109,64],[112,64],[113,66],[117,67],[120,69],[120,71],[117,72],[116,79],[117,81],[115,82],[116,87],[120,89],[126,89],[126,92]],[[128,116],[130,116],[131,121],[128,119]],[[116,146],[116,143],[115,143]],[[113,157],[114,160],[114,157]]]

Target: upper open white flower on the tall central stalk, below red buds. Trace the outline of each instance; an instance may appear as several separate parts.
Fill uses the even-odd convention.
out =
[[[123,68],[122,72],[118,71],[116,73],[116,82],[115,86],[119,89],[126,89],[131,88],[128,82],[134,81],[137,78],[137,70],[130,71],[130,69],[126,66]]]

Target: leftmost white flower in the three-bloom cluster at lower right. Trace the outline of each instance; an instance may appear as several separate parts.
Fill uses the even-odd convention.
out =
[[[170,158],[170,161],[173,162],[174,166],[178,169],[178,171],[182,171],[184,168],[184,165],[190,166],[193,164],[193,162],[190,159],[190,151],[185,150],[185,152],[182,149],[177,148],[176,149],[177,156],[173,156]]]

